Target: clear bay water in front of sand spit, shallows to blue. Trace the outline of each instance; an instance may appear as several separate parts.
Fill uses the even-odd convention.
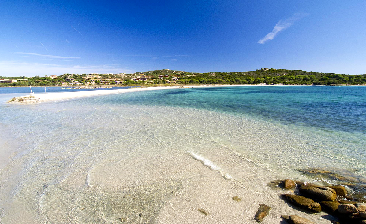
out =
[[[0,113],[1,223],[256,223],[258,204],[272,207],[265,224],[329,223],[267,183],[320,181],[308,167],[366,176],[363,86],[142,91]]]

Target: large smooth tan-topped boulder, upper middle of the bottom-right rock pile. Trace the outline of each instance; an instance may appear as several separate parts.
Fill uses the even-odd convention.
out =
[[[299,190],[302,195],[318,201],[334,201],[337,199],[336,191],[329,187],[303,186]]]

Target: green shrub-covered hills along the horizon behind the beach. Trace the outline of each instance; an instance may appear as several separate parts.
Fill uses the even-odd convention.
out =
[[[182,75],[175,77],[175,75]],[[141,76],[149,76],[150,80],[132,80]],[[167,76],[167,77],[159,77]],[[212,72],[197,73],[174,71],[169,69],[137,72],[132,74],[93,74],[77,75],[64,74],[57,79],[50,77],[0,77],[7,79],[19,79],[16,83],[1,83],[1,86],[26,86],[26,85],[57,85],[57,82],[64,82],[67,78],[80,81],[80,84],[88,84],[85,78],[98,78],[107,81],[96,84],[113,85],[116,81],[123,81],[126,85],[136,84],[301,84],[301,85],[338,85],[338,84],[366,84],[366,74],[346,75],[336,73],[307,72],[302,70],[287,69],[258,69],[248,72]],[[174,78],[175,77],[175,78]],[[118,83],[118,82],[117,82]],[[90,83],[89,83],[90,84]],[[95,83],[94,83],[95,84]]]

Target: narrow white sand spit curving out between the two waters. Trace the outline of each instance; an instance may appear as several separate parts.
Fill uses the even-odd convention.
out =
[[[185,88],[202,88],[202,87],[233,87],[233,86],[253,86],[253,85],[217,85],[217,86],[184,86]],[[35,94],[33,100],[25,100],[25,102],[20,103],[37,103],[37,102],[45,102],[45,101],[55,101],[55,100],[66,100],[73,99],[79,97],[86,96],[98,96],[98,95],[107,95],[107,94],[118,94],[124,92],[137,92],[137,91],[147,91],[147,90],[167,90],[167,89],[176,89],[181,86],[157,86],[157,87],[146,87],[146,88],[129,88],[129,89],[118,89],[118,90],[95,90],[95,91],[78,91],[78,92],[52,92],[52,93],[42,93]],[[18,98],[29,97],[30,95],[20,96]],[[18,100],[13,101],[12,103],[19,103]]]

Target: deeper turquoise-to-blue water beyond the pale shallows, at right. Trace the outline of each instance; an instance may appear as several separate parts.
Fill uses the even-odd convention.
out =
[[[284,124],[366,133],[364,86],[253,86],[138,92],[105,98],[111,104],[190,107],[250,114]]]

